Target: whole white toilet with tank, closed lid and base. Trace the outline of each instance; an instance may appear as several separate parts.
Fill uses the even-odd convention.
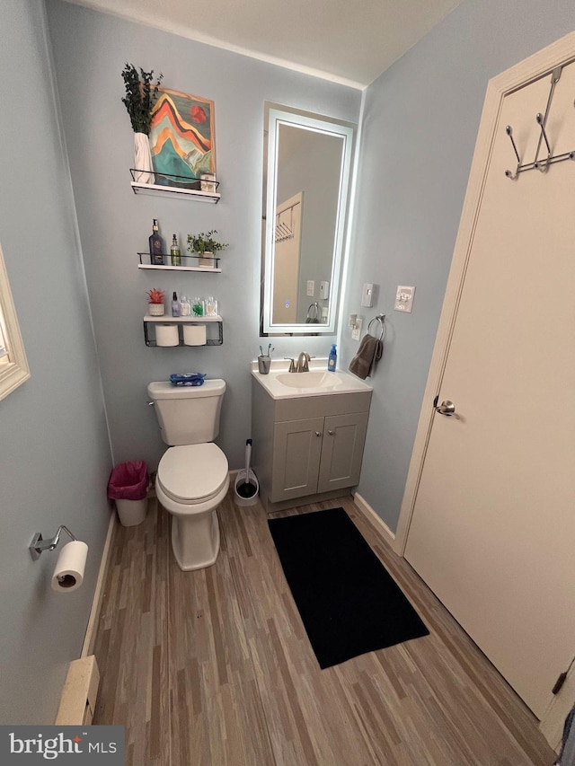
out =
[[[149,383],[166,450],[155,478],[155,494],[172,515],[173,555],[181,569],[210,567],[219,551],[217,506],[226,497],[226,455],[213,444],[226,381],[200,386]]]

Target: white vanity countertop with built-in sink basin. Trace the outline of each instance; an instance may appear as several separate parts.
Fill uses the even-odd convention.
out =
[[[372,386],[354,374],[339,369],[334,373],[328,372],[327,357],[312,359],[309,364],[309,373],[288,373],[288,368],[287,359],[272,359],[270,373],[262,375],[258,372],[257,360],[251,365],[252,376],[272,399],[296,399],[301,396],[328,396],[332,393],[372,391]],[[301,386],[297,384],[299,382],[302,383]],[[313,384],[310,385],[310,383]]]

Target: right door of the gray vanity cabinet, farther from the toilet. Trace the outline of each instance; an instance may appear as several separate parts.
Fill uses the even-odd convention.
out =
[[[325,418],[318,492],[358,484],[366,432],[367,412]]]

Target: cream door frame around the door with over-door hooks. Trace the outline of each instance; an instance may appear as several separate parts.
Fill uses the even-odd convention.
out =
[[[415,507],[423,463],[425,462],[431,427],[435,417],[435,409],[432,407],[432,402],[440,392],[447,365],[447,356],[456,326],[457,311],[461,301],[465,273],[482,206],[483,191],[503,101],[509,93],[538,80],[544,75],[551,75],[555,67],[565,66],[573,61],[575,61],[575,32],[571,32],[561,40],[557,40],[533,56],[493,77],[487,85],[453,260],[449,276],[447,277],[447,288],[438,324],[438,334],[429,366],[428,381],[423,395],[420,419],[413,443],[410,467],[403,492],[402,507],[393,542],[394,551],[400,556],[403,556],[407,544],[411,517]],[[514,157],[512,148],[509,146],[509,163],[512,161],[514,161]],[[501,172],[504,172],[504,170],[505,168],[501,168]],[[509,183],[512,183],[512,181],[509,180]],[[575,702],[575,697],[571,700],[571,704],[573,702]],[[553,706],[547,711],[542,722],[544,734],[544,725],[548,723],[548,714],[553,714]],[[555,745],[551,744],[552,746]]]

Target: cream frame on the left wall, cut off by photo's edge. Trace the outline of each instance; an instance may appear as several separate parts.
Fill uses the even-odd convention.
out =
[[[0,245],[0,325],[4,337],[5,352],[0,359],[0,400],[12,393],[30,377],[30,368],[16,310],[8,274],[4,263],[4,253]],[[7,361],[6,361],[7,357]]]

